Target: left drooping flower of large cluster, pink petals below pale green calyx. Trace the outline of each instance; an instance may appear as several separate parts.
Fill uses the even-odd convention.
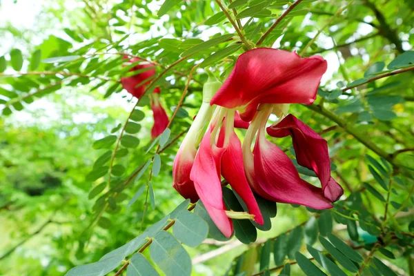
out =
[[[208,83],[216,83],[216,92],[221,83],[212,74],[209,79]],[[208,113],[211,117],[210,111],[215,109],[215,106],[208,105],[214,92],[209,96],[203,95],[204,103],[177,153],[173,178],[176,190],[189,198],[188,195],[197,194],[219,230],[226,237],[230,237],[233,233],[233,224],[222,198],[221,175],[246,203],[251,214],[247,217],[255,219],[258,224],[263,224],[264,221],[244,175],[242,144],[234,131],[235,109],[217,108],[211,121],[205,115]],[[210,121],[210,124],[204,133],[207,121]],[[197,150],[197,141],[203,134]]]

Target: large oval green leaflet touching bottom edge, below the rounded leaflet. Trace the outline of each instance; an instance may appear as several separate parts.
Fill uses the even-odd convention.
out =
[[[191,274],[190,256],[181,244],[164,230],[152,239],[150,255],[166,276],[190,276]]]

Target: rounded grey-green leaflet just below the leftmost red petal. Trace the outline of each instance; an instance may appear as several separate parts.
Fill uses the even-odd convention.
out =
[[[183,244],[196,247],[206,239],[208,225],[201,217],[188,212],[188,210],[183,210],[175,219],[172,233]]]

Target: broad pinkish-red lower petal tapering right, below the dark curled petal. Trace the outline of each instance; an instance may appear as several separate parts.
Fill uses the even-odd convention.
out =
[[[259,130],[255,148],[255,176],[260,188],[274,201],[300,204],[315,209],[332,208],[322,195],[322,189],[308,184],[299,174],[289,157],[275,144],[270,143]]]

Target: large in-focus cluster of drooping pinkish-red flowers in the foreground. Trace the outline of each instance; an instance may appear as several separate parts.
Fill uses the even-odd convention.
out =
[[[173,186],[192,202],[201,199],[226,237],[233,233],[229,217],[236,216],[224,205],[221,176],[258,224],[264,220],[253,192],[315,209],[332,208],[343,194],[331,177],[327,142],[288,115],[290,103],[313,103],[326,67],[319,56],[301,58],[295,52],[257,48],[240,55],[222,85],[209,72],[203,103],[175,157]],[[278,120],[266,128],[272,113]],[[243,144],[235,127],[247,129]],[[266,132],[290,136],[297,163],[313,170],[322,187],[301,179],[285,152],[266,139]]]

